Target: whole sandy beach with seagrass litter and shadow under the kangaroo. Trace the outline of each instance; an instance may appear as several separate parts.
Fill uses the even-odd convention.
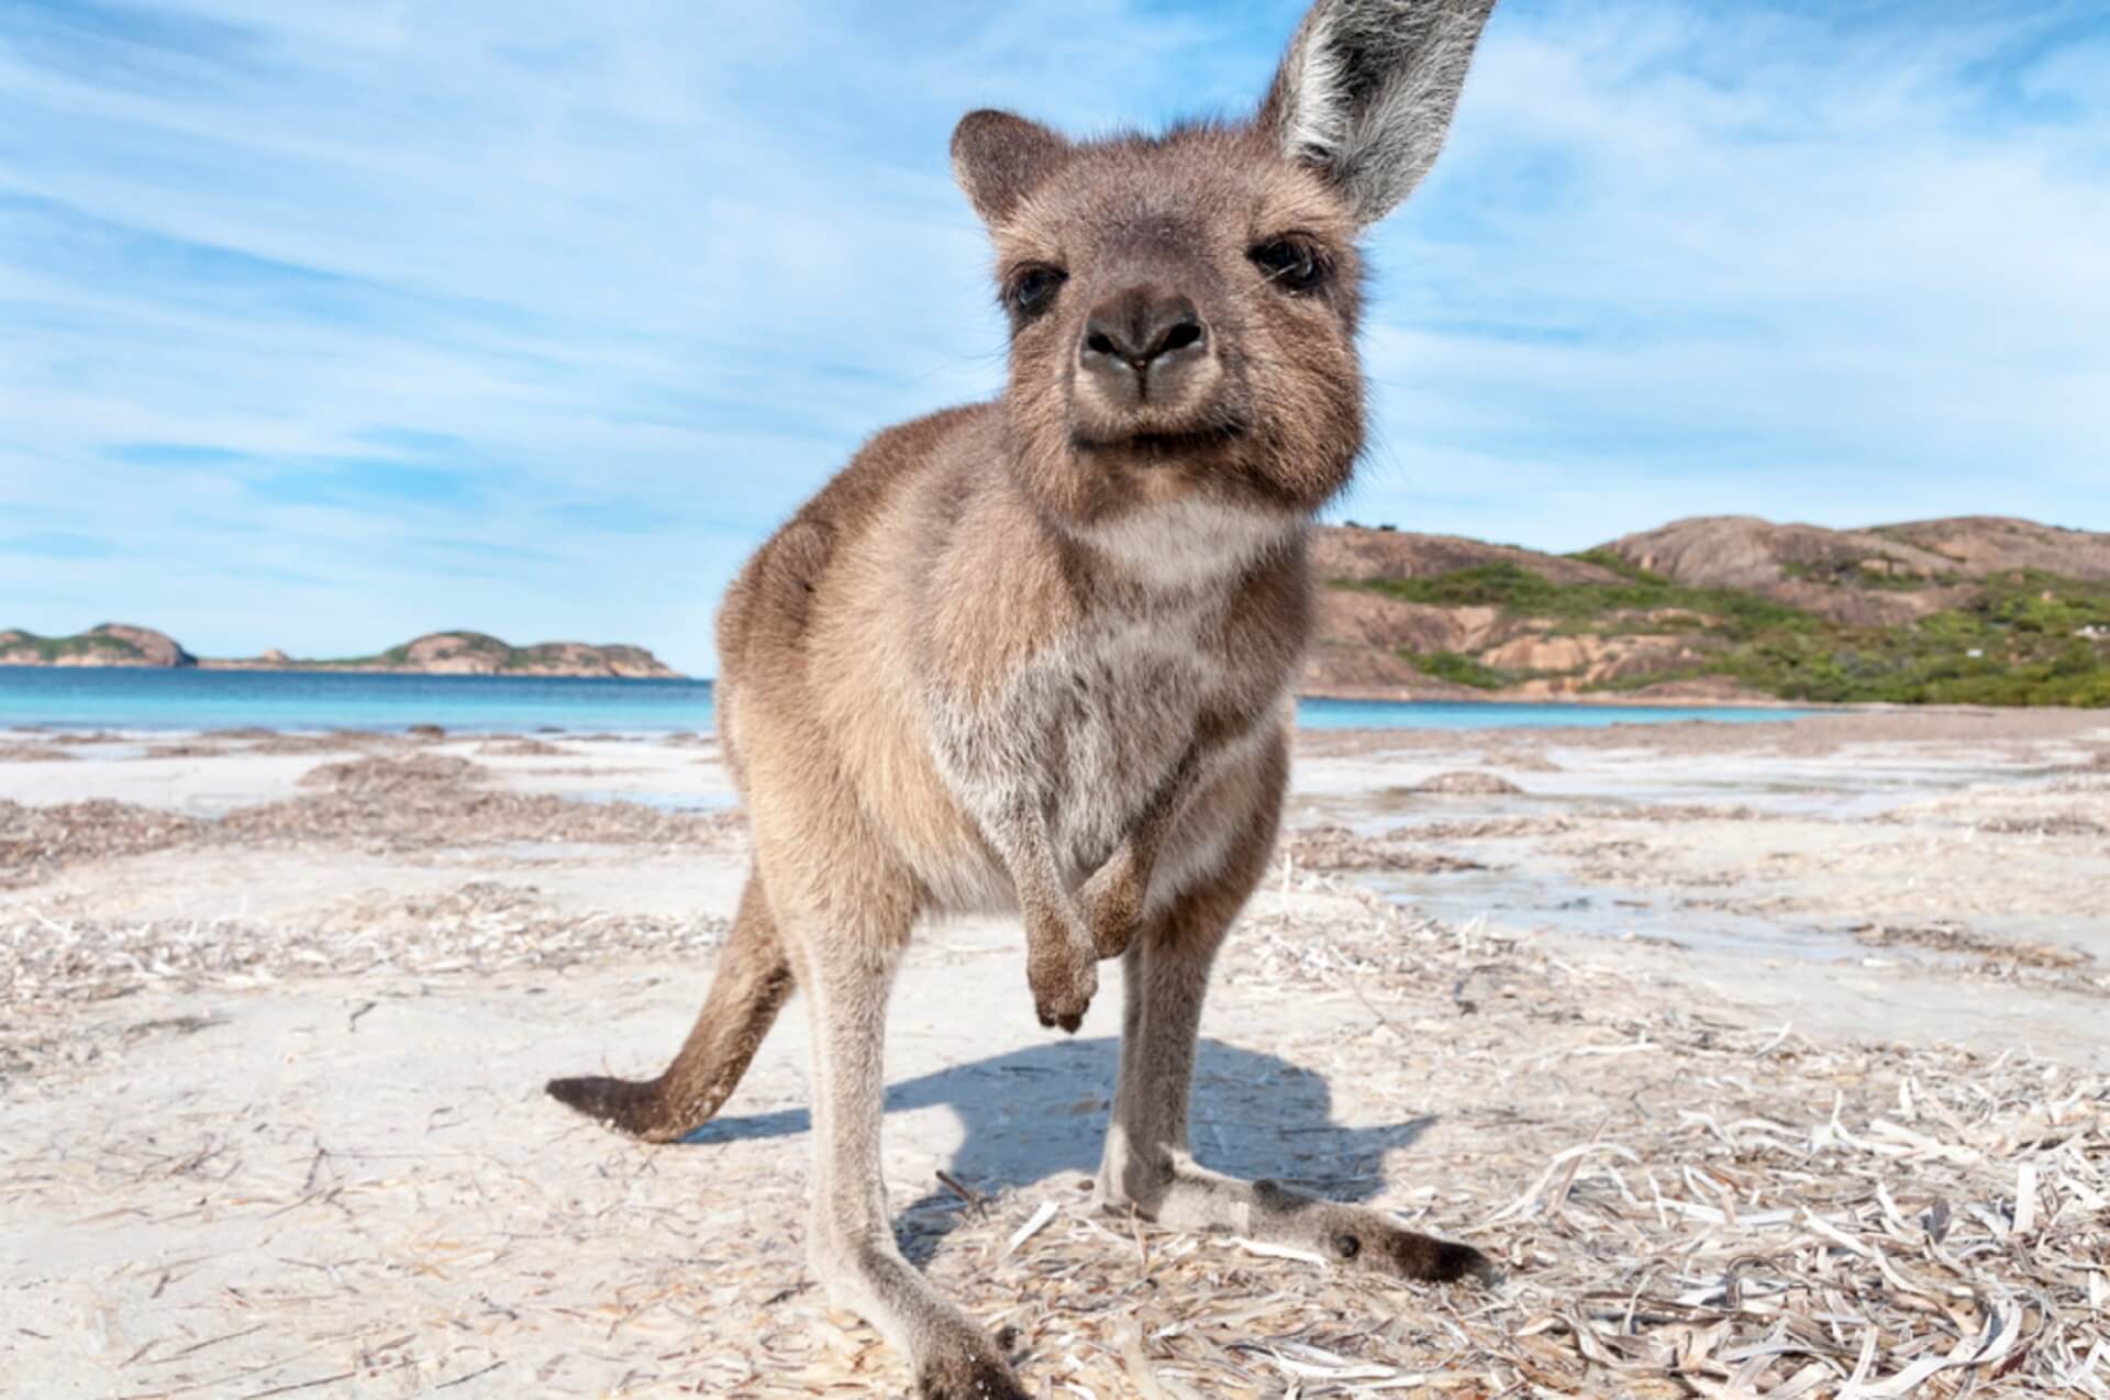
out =
[[[675,1147],[745,862],[707,736],[0,734],[0,1389],[893,1396],[802,1255],[806,1023]],[[1194,1149],[1473,1240],[1420,1288],[1085,1210],[1118,970],[1004,921],[888,1042],[912,1259],[1049,1396],[2110,1396],[2110,715],[1338,732]]]

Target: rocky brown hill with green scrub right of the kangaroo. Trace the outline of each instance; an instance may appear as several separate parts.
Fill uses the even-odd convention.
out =
[[[2110,704],[2110,533],[1701,517],[1576,555],[1321,531],[1306,694]]]

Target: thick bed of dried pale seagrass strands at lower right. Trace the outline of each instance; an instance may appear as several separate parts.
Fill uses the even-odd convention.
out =
[[[1443,985],[1485,964],[1509,970],[1494,1018],[1437,1035]],[[1443,1073],[1490,1105],[1441,1164],[1407,1151],[1386,1174],[1407,1225],[1488,1248],[1504,1282],[1403,1284],[1000,1193],[931,1269],[1017,1318],[1057,1394],[1127,1396],[1148,1373],[1167,1394],[1270,1400],[2110,1396],[2110,1077],[1743,1029],[1382,902],[1249,917],[1228,974],[1277,995],[1357,987],[1422,1031],[1289,1050],[1334,1084]],[[1196,1143],[1207,1158],[1207,1122]],[[1025,1227],[1040,1236],[1000,1282],[975,1267]]]

